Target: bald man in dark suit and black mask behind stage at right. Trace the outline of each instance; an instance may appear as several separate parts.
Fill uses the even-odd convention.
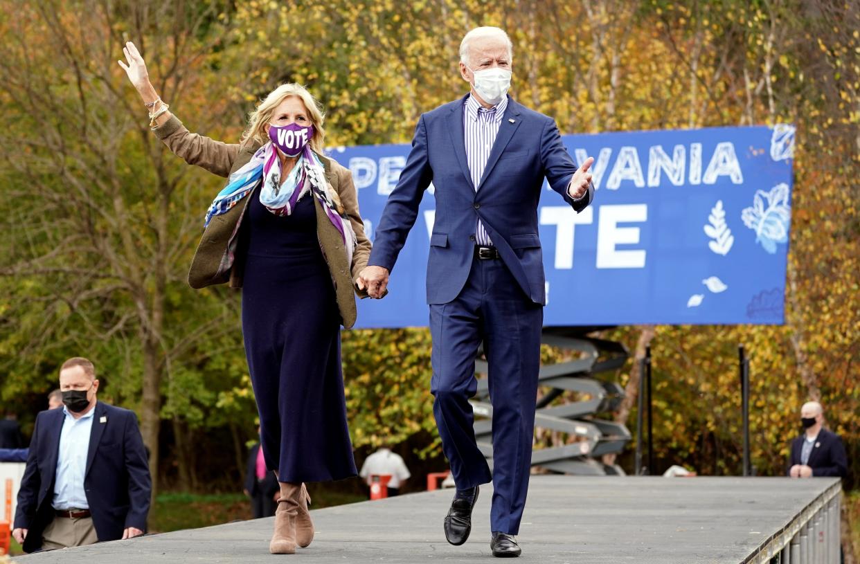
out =
[[[803,404],[801,423],[806,431],[791,443],[789,476],[845,478],[848,475],[845,447],[839,435],[824,428],[824,409],[819,402]]]

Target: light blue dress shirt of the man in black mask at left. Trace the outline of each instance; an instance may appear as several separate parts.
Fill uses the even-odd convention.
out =
[[[77,420],[65,406],[63,413],[65,419],[59,435],[57,475],[51,505],[60,510],[89,509],[83,476],[87,470],[89,432],[93,428],[95,406]]]

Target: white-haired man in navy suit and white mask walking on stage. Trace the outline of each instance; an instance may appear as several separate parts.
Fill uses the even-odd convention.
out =
[[[462,544],[478,486],[493,481],[490,547],[517,556],[525,506],[544,321],[544,264],[537,202],[544,178],[575,211],[593,198],[588,168],[576,168],[556,123],[507,95],[513,46],[499,28],[476,28],[460,45],[464,98],[424,113],[412,150],[359,276],[382,297],[391,268],[433,182],[436,215],[427,261],[433,336],[433,414],[457,494],[445,537]],[[493,472],[478,449],[469,398],[483,342],[493,403]]]

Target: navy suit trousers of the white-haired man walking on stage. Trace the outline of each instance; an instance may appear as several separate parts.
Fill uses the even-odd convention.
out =
[[[519,532],[529,485],[544,306],[534,303],[501,260],[473,259],[464,288],[430,305],[433,414],[457,487],[493,481],[492,530]],[[478,449],[469,403],[483,341],[493,404],[493,472]]]

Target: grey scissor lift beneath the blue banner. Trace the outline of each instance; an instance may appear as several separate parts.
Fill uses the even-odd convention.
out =
[[[537,400],[535,426],[566,433],[568,440],[562,446],[533,450],[532,466],[575,475],[624,475],[617,464],[609,466],[599,458],[624,450],[624,445],[630,441],[630,432],[623,424],[597,417],[618,407],[624,398],[624,389],[596,375],[617,371],[629,353],[621,343],[585,336],[593,330],[595,328],[544,328],[541,342],[579,352],[581,356],[540,368],[540,389],[549,388],[549,391]],[[481,353],[476,361],[476,372],[486,375],[487,362],[480,356]],[[579,401],[569,401],[565,392],[575,392]],[[477,394],[471,404],[476,415],[478,447],[492,466],[493,407],[489,402],[486,377],[478,378]]]

